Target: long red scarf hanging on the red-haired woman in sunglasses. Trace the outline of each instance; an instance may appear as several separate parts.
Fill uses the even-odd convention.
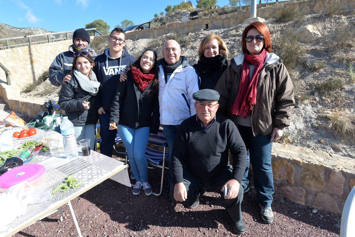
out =
[[[244,54],[245,58],[242,64],[238,95],[230,109],[232,114],[240,115],[244,118],[246,118],[248,114],[251,114],[252,106],[256,103],[256,86],[258,84],[258,78],[266,56],[267,52],[265,49],[263,49],[259,55]],[[249,64],[255,65],[250,83]]]

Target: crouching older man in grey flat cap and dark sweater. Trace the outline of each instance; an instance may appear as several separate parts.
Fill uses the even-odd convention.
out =
[[[216,114],[219,93],[204,89],[193,93],[196,115],[178,128],[172,151],[170,196],[186,208],[195,208],[206,187],[223,192],[226,215],[236,233],[245,233],[241,215],[243,189],[240,186],[245,167],[246,149],[235,124]],[[233,166],[229,165],[229,153]],[[222,194],[222,197],[224,195]]]

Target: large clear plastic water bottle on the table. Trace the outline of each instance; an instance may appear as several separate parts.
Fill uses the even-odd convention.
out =
[[[76,145],[74,125],[68,117],[64,117],[60,124],[60,131],[62,133],[64,153],[67,158],[73,158],[78,155],[78,148]]]

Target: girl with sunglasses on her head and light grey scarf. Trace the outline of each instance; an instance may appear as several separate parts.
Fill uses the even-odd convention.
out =
[[[92,70],[94,64],[88,52],[74,53],[71,80],[62,85],[58,101],[74,125],[76,140],[90,139],[91,150],[94,149],[95,124],[98,121],[95,96],[100,86]]]

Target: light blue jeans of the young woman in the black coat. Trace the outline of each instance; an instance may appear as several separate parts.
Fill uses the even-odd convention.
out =
[[[149,138],[149,127],[130,128],[117,125],[118,134],[126,147],[132,172],[137,181],[148,181],[148,161],[145,155]]]

